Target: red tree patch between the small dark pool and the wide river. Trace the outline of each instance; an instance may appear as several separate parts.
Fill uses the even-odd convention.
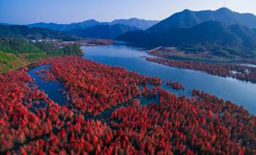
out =
[[[46,65],[49,61],[40,64]],[[109,67],[78,56],[54,59],[50,72],[66,87],[72,108],[94,116],[139,96],[139,85],[161,84],[159,78],[147,78],[125,68]]]

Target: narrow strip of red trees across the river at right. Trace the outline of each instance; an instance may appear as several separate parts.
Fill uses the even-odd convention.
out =
[[[146,58],[147,61],[156,62],[171,67],[187,68],[196,71],[205,71],[208,74],[221,76],[224,78],[236,78],[241,81],[251,81],[256,83],[256,68],[245,65],[233,64],[213,64],[205,62],[191,62],[185,60]]]

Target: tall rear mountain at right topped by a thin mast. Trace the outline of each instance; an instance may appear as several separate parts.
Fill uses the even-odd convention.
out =
[[[239,24],[256,29],[256,16],[254,14],[239,14],[228,8],[216,11],[190,11],[188,9],[171,15],[147,29],[149,32],[164,32],[174,28],[190,28],[205,21],[218,21],[227,25]]]

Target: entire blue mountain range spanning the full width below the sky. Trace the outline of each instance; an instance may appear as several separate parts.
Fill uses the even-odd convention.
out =
[[[143,47],[174,46],[185,51],[210,51],[217,55],[256,56],[256,17],[228,8],[216,11],[186,9],[160,22],[131,18],[109,23],[87,20],[81,23],[34,23],[28,26],[31,29],[26,26],[19,29],[17,26],[0,27],[0,37],[112,38]]]

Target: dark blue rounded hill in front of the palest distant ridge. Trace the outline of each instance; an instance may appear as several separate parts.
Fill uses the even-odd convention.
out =
[[[116,38],[125,32],[137,31],[134,26],[122,24],[115,25],[97,25],[86,29],[72,29],[69,33],[82,38]]]

